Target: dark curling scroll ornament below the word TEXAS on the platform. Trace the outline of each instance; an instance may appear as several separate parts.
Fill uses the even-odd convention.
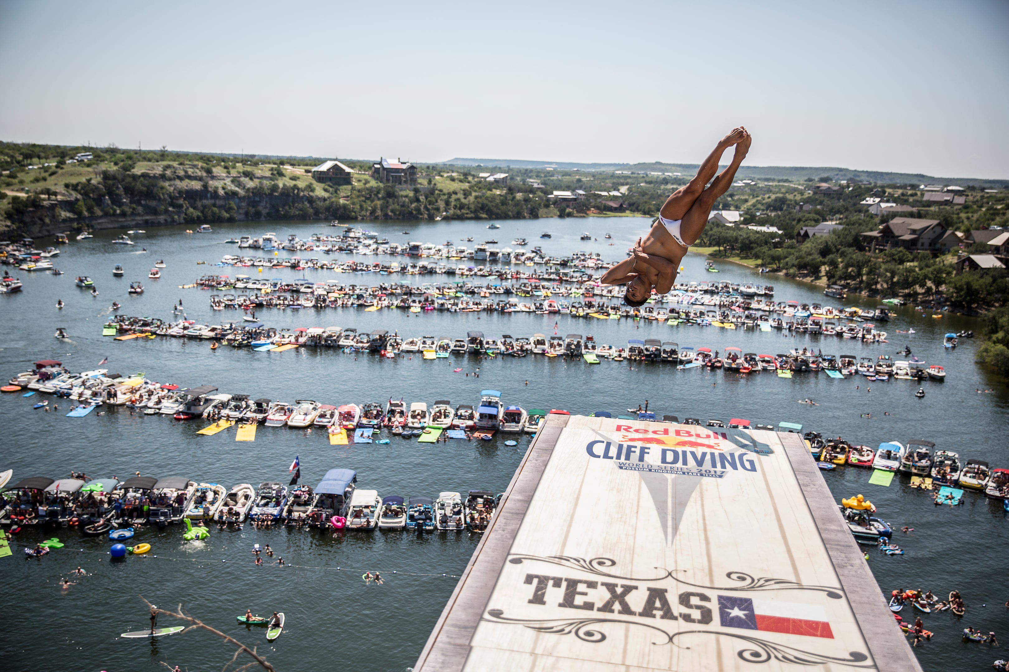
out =
[[[598,628],[593,630],[592,627],[608,623],[638,626],[640,628],[653,630],[660,634],[664,640],[652,642],[653,645],[657,646],[672,644],[673,646],[678,647],[679,644],[676,643],[676,640],[685,635],[718,635],[720,637],[732,637],[742,640],[753,647],[740,649],[736,652],[736,655],[739,656],[741,660],[745,660],[748,663],[767,663],[771,660],[776,660],[781,663],[790,663],[792,665],[809,666],[827,665],[832,663],[859,669],[876,669],[876,665],[869,661],[869,656],[860,651],[850,651],[848,653],[848,658],[838,658],[835,656],[827,656],[825,654],[817,653],[815,651],[805,651],[803,649],[786,646],[784,644],[768,642],[767,640],[762,640],[751,635],[742,635],[724,631],[686,630],[670,634],[661,628],[657,628],[656,626],[628,621],[625,619],[512,619],[506,617],[504,612],[499,609],[488,610],[486,616],[482,617],[480,620],[487,623],[518,624],[531,630],[547,633],[549,635],[574,635],[579,640],[588,642],[589,644],[598,644],[605,641],[605,633]]]

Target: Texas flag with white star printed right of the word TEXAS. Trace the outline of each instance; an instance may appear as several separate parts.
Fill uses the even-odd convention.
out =
[[[722,628],[833,639],[826,614],[816,604],[718,595],[718,618]]]

